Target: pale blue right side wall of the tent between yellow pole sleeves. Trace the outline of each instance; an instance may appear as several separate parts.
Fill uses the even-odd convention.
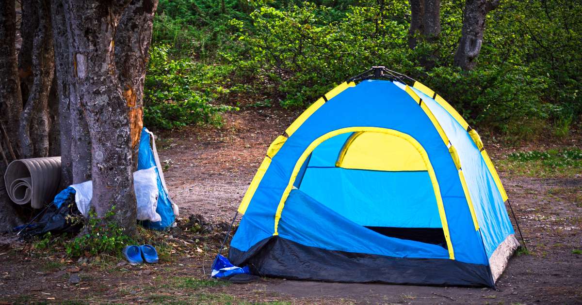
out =
[[[491,254],[499,244],[509,234],[514,234],[508,212],[495,180],[489,172],[477,145],[475,145],[475,142],[473,142],[473,139],[471,139],[462,125],[434,99],[416,89],[414,91],[437,117],[450,142],[459,153],[467,188],[469,188],[477,221],[484,239],[487,257],[491,257]]]

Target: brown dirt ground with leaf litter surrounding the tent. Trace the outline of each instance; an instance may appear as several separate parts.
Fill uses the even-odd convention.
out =
[[[187,127],[158,132],[166,182],[180,206],[178,227],[158,234],[166,241],[167,255],[161,262],[134,266],[112,257],[70,260],[58,249],[47,252],[33,243],[3,243],[0,304],[582,304],[580,168],[566,173],[549,169],[543,175],[500,172],[528,251],[510,260],[498,290],[273,278],[228,285],[208,279],[223,231],[269,143],[298,114],[277,108],[243,109],[226,114],[225,125],[218,130]],[[513,148],[482,136],[494,162],[502,164],[515,149],[582,148],[579,131],[567,139],[542,139]]]

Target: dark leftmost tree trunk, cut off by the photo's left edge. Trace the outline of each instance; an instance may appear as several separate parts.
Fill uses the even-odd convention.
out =
[[[5,127],[8,138],[0,132],[0,150],[6,161],[12,161],[8,143],[13,143],[18,134],[17,122],[22,109],[20,80],[18,78],[18,60],[16,57],[16,9],[14,1],[0,1],[0,123]],[[6,163],[0,156],[0,232],[5,232],[22,224],[10,202],[4,184]]]

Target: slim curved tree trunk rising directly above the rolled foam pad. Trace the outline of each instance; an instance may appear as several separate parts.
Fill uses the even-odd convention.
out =
[[[26,27],[27,24],[34,24],[34,20],[38,21],[38,27],[34,31],[31,52],[33,81],[31,85],[28,81],[23,82],[28,87],[28,97],[20,115],[20,150],[22,158],[46,157],[48,156],[50,124],[48,95],[52,85],[52,78],[54,77],[54,48],[52,46],[50,5],[44,0],[32,0],[31,3],[27,3],[26,8],[33,10],[33,12],[23,11],[23,18],[24,16],[29,16],[30,20],[23,19],[22,28]],[[34,14],[36,16],[31,16]],[[29,48],[29,42],[25,37],[23,37],[23,48],[21,52],[27,52]],[[21,71],[28,69],[28,54],[23,53],[20,58],[24,67]]]

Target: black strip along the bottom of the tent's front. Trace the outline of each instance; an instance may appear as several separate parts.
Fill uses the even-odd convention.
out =
[[[235,265],[249,265],[254,274],[262,277],[346,283],[495,285],[487,265],[326,250],[280,236],[264,239],[247,252],[231,247],[229,259]]]

